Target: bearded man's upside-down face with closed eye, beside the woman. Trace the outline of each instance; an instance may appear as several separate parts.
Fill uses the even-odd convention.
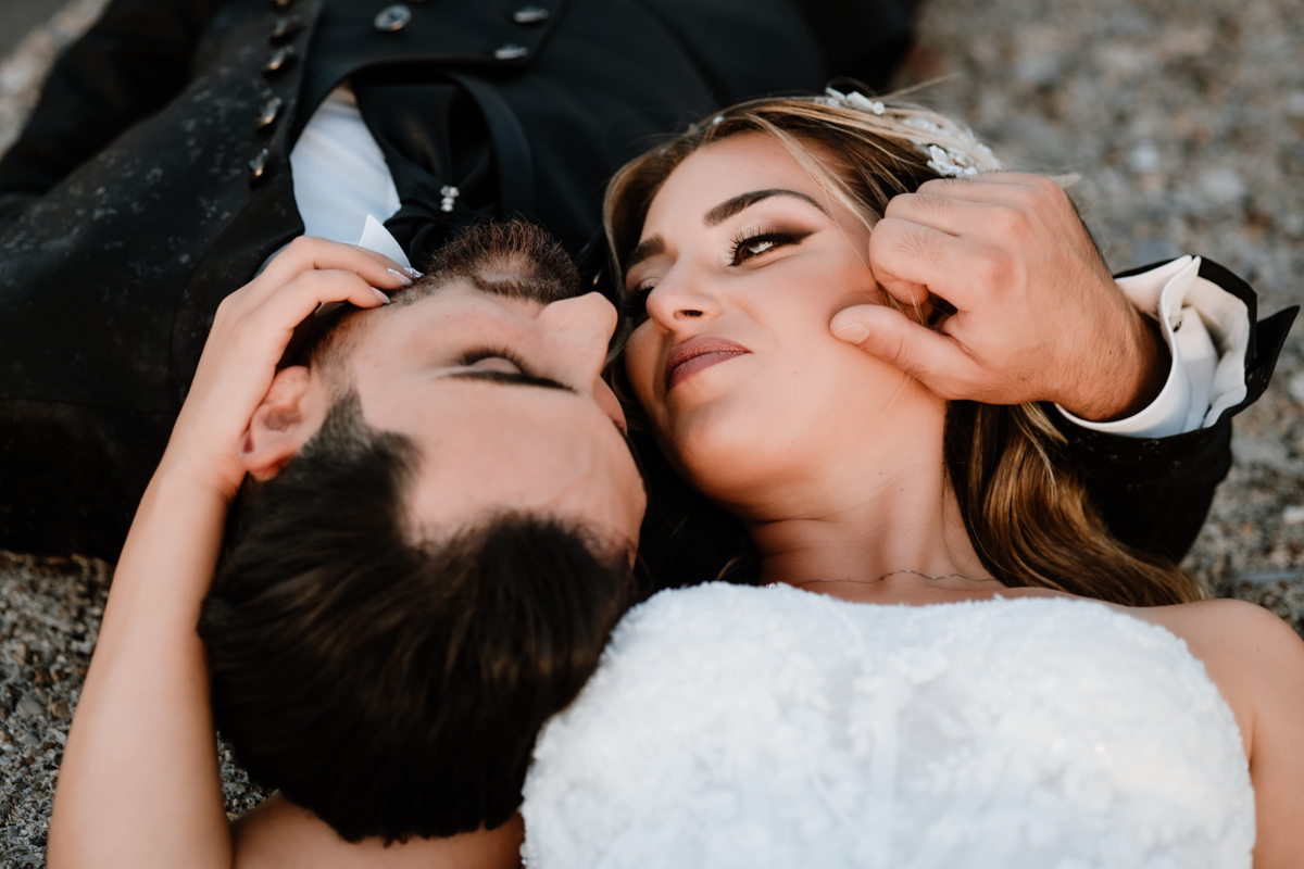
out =
[[[518,511],[576,521],[632,554],[643,483],[601,378],[615,309],[527,254],[481,250],[432,271],[360,317],[340,361],[366,422],[420,448],[412,539]]]

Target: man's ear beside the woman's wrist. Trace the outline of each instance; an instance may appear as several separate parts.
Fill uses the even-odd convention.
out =
[[[276,373],[240,444],[245,473],[271,479],[326,420],[325,384],[303,365]]]

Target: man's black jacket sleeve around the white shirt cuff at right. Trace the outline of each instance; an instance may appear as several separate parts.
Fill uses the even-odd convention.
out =
[[[1208,259],[1200,276],[1244,301],[1254,323],[1257,300],[1248,284]],[[1133,438],[1082,429],[1047,406],[1116,538],[1175,562],[1191,550],[1209,515],[1214,490],[1231,469],[1231,418],[1267,388],[1297,313],[1297,306],[1287,307],[1251,330],[1245,397],[1211,426],[1168,438]]]

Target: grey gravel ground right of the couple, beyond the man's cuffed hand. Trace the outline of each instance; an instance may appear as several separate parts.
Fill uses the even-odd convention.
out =
[[[1304,301],[1304,20],[1282,0],[927,5],[902,83],[1016,165],[1074,188],[1121,271],[1194,253],[1245,278],[1260,317]],[[1304,633],[1304,327],[1236,418],[1235,466],[1184,567]]]

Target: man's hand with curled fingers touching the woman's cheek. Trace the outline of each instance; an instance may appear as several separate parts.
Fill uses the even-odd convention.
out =
[[[908,310],[931,292],[956,313],[932,331],[857,305],[833,318],[833,335],[945,399],[1056,401],[1106,421],[1163,388],[1167,348],[1047,177],[994,172],[898,195],[870,236],[870,266]]]

